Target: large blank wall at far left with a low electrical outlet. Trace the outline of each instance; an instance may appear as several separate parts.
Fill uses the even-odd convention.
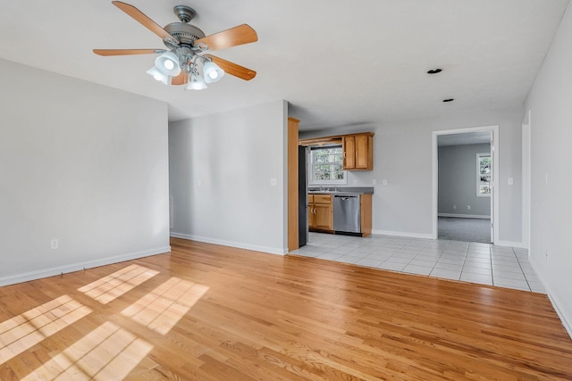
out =
[[[166,104],[4,60],[0,83],[0,286],[169,251]]]

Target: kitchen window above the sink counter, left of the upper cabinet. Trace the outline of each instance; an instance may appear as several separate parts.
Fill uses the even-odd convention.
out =
[[[347,184],[341,145],[311,147],[308,160],[309,184]]]

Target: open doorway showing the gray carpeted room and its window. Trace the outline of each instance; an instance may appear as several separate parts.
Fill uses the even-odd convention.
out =
[[[433,131],[433,239],[498,241],[498,130]]]

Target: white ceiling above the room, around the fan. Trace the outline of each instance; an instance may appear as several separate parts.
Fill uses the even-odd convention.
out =
[[[568,0],[126,0],[159,25],[172,7],[198,12],[206,35],[248,23],[258,42],[214,52],[257,70],[203,91],[146,74],[153,55],[93,48],[163,48],[110,1],[3,1],[0,57],[146,95],[181,120],[285,99],[300,129],[334,128],[520,105]],[[442,68],[437,75],[427,70]],[[455,98],[442,103],[442,99]]]

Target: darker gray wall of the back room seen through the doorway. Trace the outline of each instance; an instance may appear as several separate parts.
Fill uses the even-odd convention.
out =
[[[491,217],[491,197],[476,195],[476,154],[490,152],[488,144],[439,147],[439,213]]]

